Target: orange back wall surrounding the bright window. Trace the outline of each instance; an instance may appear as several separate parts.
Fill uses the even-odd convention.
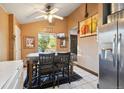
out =
[[[24,59],[27,54],[32,53],[32,52],[37,52],[38,50],[38,33],[43,32],[44,28],[47,27],[52,27],[53,28],[53,33],[65,33],[66,36],[68,36],[67,33],[67,23],[66,19],[63,21],[61,20],[55,20],[53,22],[53,25],[50,25],[47,21],[39,21],[39,22],[33,22],[33,23],[28,23],[28,24],[23,24],[21,25],[21,30],[22,30],[22,35],[21,35],[21,40],[22,40],[22,58]],[[35,48],[33,49],[26,49],[24,47],[24,37],[25,36],[34,36],[35,37]],[[60,42],[57,40],[57,50],[58,51],[67,51],[68,50],[68,38],[66,42],[67,46],[66,48],[60,48]]]

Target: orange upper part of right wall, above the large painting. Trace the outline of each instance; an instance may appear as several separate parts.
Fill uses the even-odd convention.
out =
[[[89,3],[88,4],[89,16],[97,12],[98,12],[98,4]],[[84,15],[85,15],[85,4],[81,4],[80,7],[78,7],[67,17],[68,30],[70,30],[72,27],[78,26],[78,22],[85,19]]]

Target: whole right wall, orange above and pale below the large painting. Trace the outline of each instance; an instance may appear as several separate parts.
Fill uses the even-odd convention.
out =
[[[98,4],[88,4],[89,16],[98,12]],[[84,20],[85,4],[81,4],[67,17],[68,31],[78,26],[78,22]],[[96,36],[80,38],[78,36],[78,62],[77,64],[98,73],[98,56]]]

